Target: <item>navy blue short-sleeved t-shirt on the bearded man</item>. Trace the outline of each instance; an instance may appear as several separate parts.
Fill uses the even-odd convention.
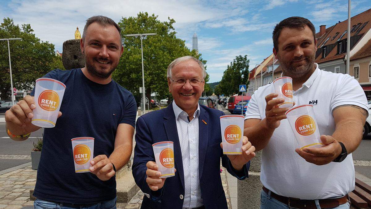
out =
[[[44,77],[66,85],[60,106],[62,116],[54,128],[44,129],[43,149],[33,195],[65,203],[95,203],[116,197],[116,180],[102,181],[92,173],[75,173],[71,139],[94,138],[94,156],[111,155],[120,123],[135,127],[137,105],[130,91],[114,80],[95,83],[81,68],[52,70]],[[34,96],[34,90],[31,93]]]

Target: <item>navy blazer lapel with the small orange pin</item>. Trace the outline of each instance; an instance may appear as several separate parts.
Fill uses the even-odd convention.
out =
[[[200,179],[209,142],[209,126],[209,114],[200,106],[200,116],[198,117],[198,172]]]

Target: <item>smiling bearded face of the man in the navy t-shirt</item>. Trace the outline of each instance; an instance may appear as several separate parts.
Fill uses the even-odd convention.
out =
[[[121,35],[113,25],[92,23],[81,40],[86,69],[92,77],[109,78],[117,67],[123,48]]]

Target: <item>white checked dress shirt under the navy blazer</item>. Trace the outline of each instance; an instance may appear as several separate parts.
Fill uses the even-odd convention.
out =
[[[175,120],[182,152],[184,173],[184,202],[185,208],[198,208],[203,206],[201,197],[200,180],[198,175],[198,116],[200,106],[189,121],[188,114],[173,102]]]

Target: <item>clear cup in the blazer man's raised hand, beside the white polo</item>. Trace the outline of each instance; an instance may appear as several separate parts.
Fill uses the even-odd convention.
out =
[[[221,138],[223,141],[223,154],[242,154],[244,116],[223,115],[220,116]]]

